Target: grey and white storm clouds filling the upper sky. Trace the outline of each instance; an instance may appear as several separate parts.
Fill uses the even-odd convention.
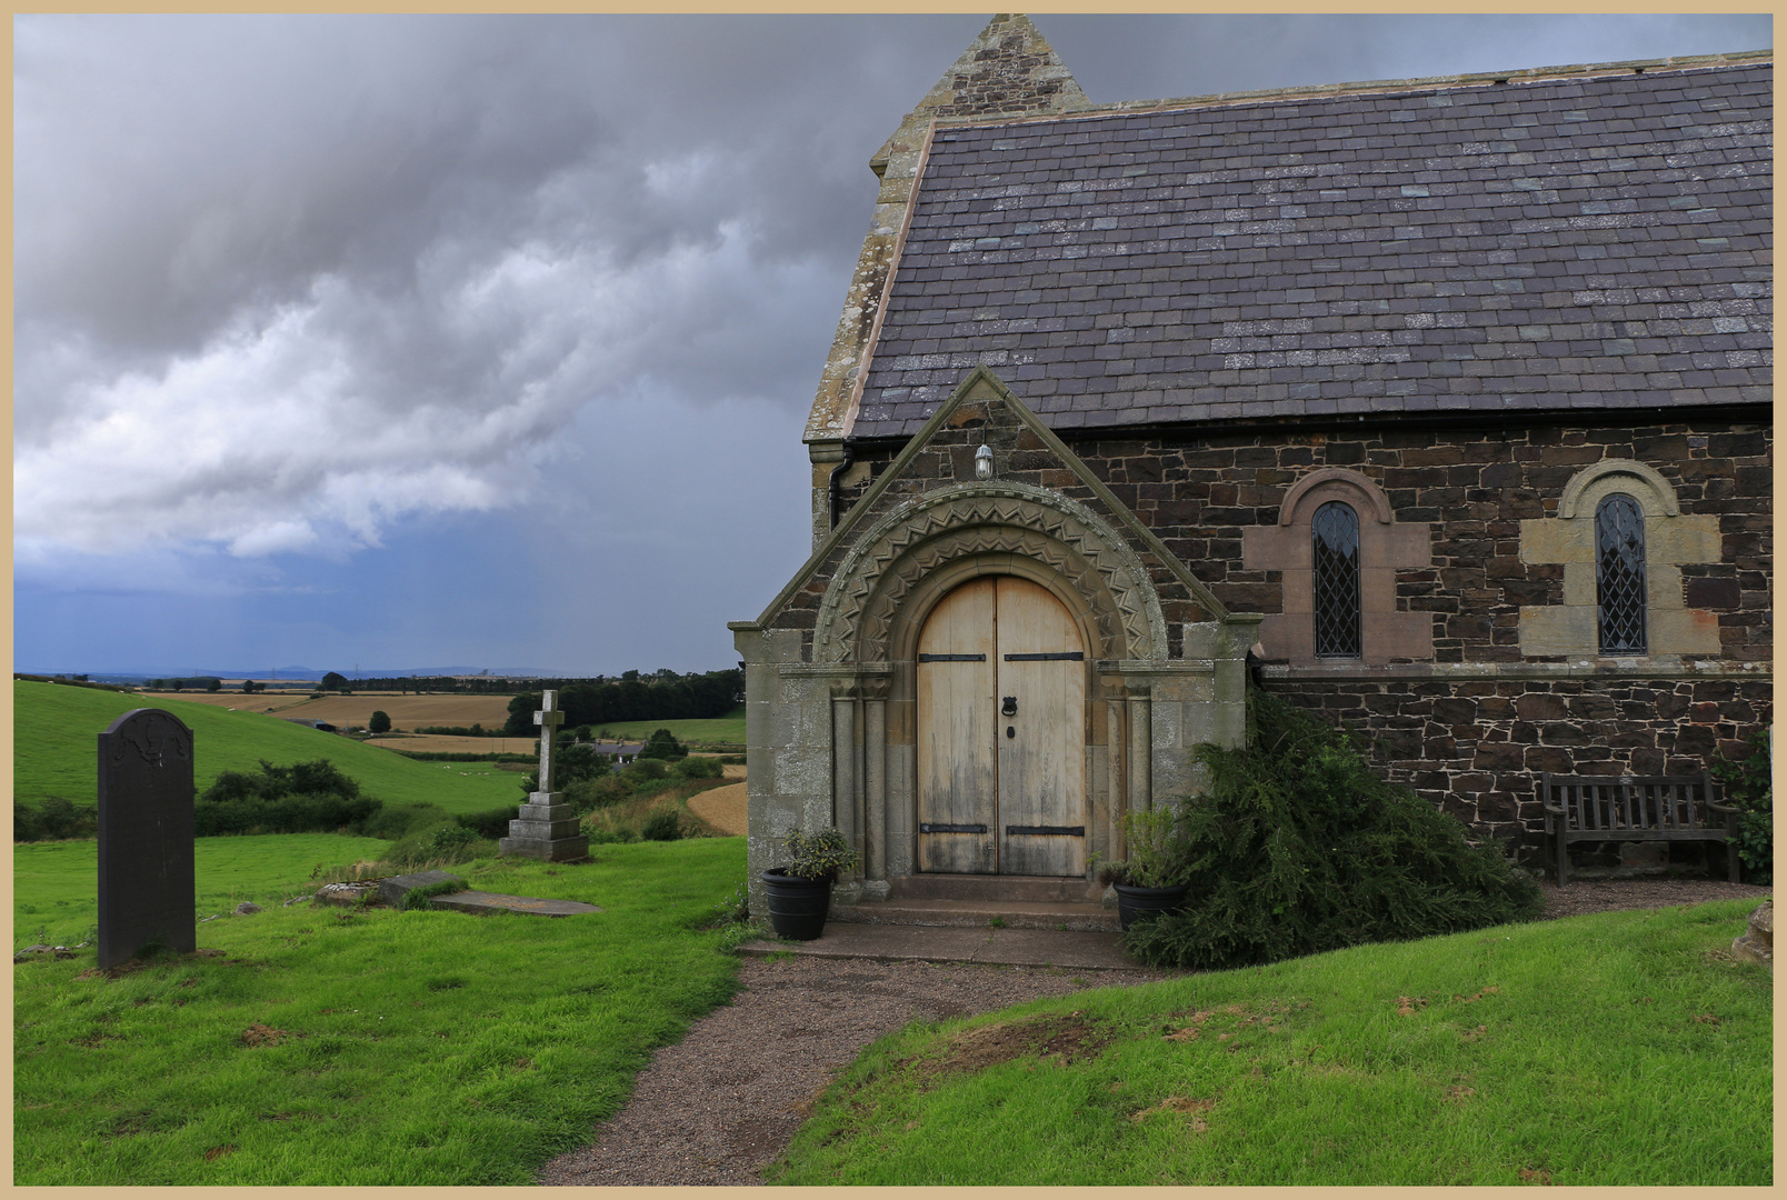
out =
[[[983,23],[18,18],[21,566],[373,546],[406,516],[502,509],[588,471],[574,421],[617,405],[652,405],[661,429],[736,421],[720,441],[742,459],[684,484],[724,505],[767,446],[797,462],[870,216],[867,157]],[[1735,50],[1769,30],[1038,23],[1094,100]]]

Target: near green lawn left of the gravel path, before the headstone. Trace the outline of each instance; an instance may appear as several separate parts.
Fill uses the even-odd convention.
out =
[[[284,893],[307,857],[245,889]],[[602,912],[275,907],[120,979],[93,950],[14,966],[14,1184],[527,1184],[731,996],[736,959],[692,923],[743,879],[742,838],[456,871]],[[27,902],[66,875],[21,873]]]

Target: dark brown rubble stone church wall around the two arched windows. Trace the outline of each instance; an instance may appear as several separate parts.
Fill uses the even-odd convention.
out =
[[[1231,611],[1281,611],[1278,571],[1242,566],[1242,530],[1278,521],[1299,477],[1360,471],[1397,523],[1430,523],[1433,561],[1399,570],[1399,611],[1430,612],[1435,670],[1372,682],[1274,671],[1271,686],[1380,741],[1378,764],[1478,832],[1535,841],[1537,771],[1698,771],[1769,720],[1766,679],[1471,679],[1472,664],[1523,673],[1523,605],[1562,602],[1564,568],[1521,559],[1521,521],[1556,516],[1564,486],[1603,459],[1635,459],[1674,489],[1682,512],[1714,514],[1721,561],[1682,566],[1683,602],[1717,618],[1719,654],[1683,655],[1717,673],[1764,670],[1771,641],[1771,436],[1764,423],[1658,423],[1274,430],[1187,438],[1086,436],[1070,443],[1115,496]],[[843,507],[897,446],[856,448]],[[942,464],[940,464],[942,466]],[[1403,661],[1408,662],[1408,661]],[[1608,659],[1601,659],[1603,670]],[[1635,664],[1637,666],[1637,664]],[[1544,671],[1546,668],[1537,668]],[[1464,677],[1456,677],[1462,673]]]

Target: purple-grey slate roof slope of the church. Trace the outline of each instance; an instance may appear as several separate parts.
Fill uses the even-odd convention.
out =
[[[854,438],[1766,402],[1773,66],[940,125]]]

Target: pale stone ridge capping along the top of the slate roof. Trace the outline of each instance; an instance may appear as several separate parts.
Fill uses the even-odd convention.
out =
[[[1664,59],[1626,59],[1619,62],[1580,62],[1565,66],[1530,66],[1517,71],[1469,71],[1464,75],[1419,75],[1412,79],[1372,79],[1340,84],[1292,84],[1287,88],[1260,88],[1253,91],[1215,91],[1203,96],[1174,96],[1167,100],[1115,100],[1094,104],[1070,112],[938,116],[940,129],[963,125],[1017,125],[1029,121],[1074,121],[1138,112],[1170,112],[1176,109],[1221,107],[1229,104],[1258,104],[1262,100],[1321,100],[1330,96],[1360,96],[1372,93],[1426,91],[1446,88],[1494,88],[1501,84],[1537,84],[1564,79],[1601,79],[1615,75],[1644,75],[1648,71],[1694,71],[1721,66],[1757,66],[1773,62],[1774,48],[1732,50],[1724,54],[1671,55]],[[1655,68],[1655,71],[1653,71]]]

